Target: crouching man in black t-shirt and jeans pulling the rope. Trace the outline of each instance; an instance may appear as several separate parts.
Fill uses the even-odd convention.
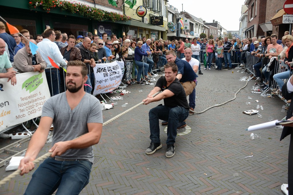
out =
[[[160,101],[164,99],[164,105],[160,104],[149,111],[149,127],[151,144],[146,150],[146,154],[153,154],[162,147],[160,140],[159,119],[167,120],[167,151],[166,157],[171,158],[175,154],[175,138],[179,122],[183,122],[188,117],[189,104],[186,99],[185,90],[176,78],[178,67],[175,63],[169,62],[164,65],[165,77],[160,77],[153,90],[144,99],[144,104]],[[162,93],[152,97],[156,92]]]

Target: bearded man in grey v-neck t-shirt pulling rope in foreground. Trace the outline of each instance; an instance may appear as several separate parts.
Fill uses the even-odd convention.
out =
[[[51,156],[34,172],[25,194],[79,194],[88,184],[93,145],[102,134],[100,102],[84,92],[87,68],[81,61],[67,63],[67,91],[48,99],[42,107],[38,129],[32,136],[19,169],[21,175],[34,168],[33,160],[47,141],[54,124]]]

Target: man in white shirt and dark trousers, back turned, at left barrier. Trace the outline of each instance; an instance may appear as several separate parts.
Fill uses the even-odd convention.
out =
[[[60,73],[57,68],[52,68],[53,66],[48,57],[50,57],[58,66],[66,66],[67,61],[63,59],[63,56],[57,44],[54,43],[54,40],[56,38],[54,29],[45,30],[44,37],[45,38],[43,39],[43,41],[39,42],[37,46],[39,53],[47,63],[47,68],[49,68],[45,69],[45,73],[50,90],[50,95],[54,96],[59,94]]]

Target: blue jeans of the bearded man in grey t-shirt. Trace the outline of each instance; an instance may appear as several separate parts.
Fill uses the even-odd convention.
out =
[[[84,160],[56,161],[49,157],[33,173],[25,195],[79,194],[88,184],[92,163]]]

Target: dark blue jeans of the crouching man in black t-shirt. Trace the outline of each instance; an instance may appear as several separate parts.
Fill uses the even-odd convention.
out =
[[[149,128],[151,143],[161,143],[159,119],[168,121],[166,144],[173,145],[177,136],[178,122],[183,122],[188,117],[186,108],[176,106],[169,108],[160,104],[149,111]]]

